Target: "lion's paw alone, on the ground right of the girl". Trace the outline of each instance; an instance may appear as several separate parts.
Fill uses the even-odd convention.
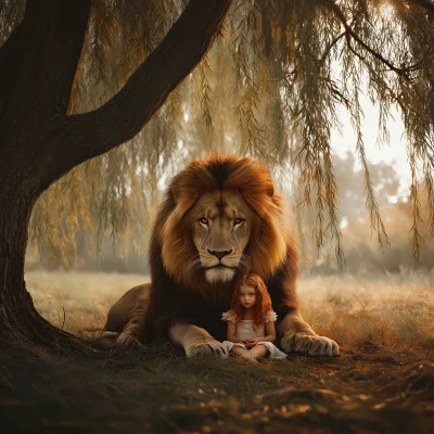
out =
[[[286,333],[281,342],[285,353],[307,353],[309,356],[339,356],[339,345],[331,339],[306,333]]]

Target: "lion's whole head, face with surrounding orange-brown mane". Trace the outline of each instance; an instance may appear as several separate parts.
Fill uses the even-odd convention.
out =
[[[286,256],[280,196],[269,171],[251,158],[191,163],[174,177],[153,233],[155,279],[161,258],[177,283],[201,292],[230,285],[238,268],[266,279]]]

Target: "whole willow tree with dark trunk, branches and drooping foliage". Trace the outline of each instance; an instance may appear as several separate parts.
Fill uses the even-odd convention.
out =
[[[51,245],[63,240],[68,247],[77,228],[87,224],[97,221],[102,230],[114,231],[125,230],[133,220],[141,224],[146,191],[155,188],[162,168],[176,168],[177,159],[212,149],[237,149],[283,171],[290,168],[301,200],[316,206],[317,245],[329,232],[342,257],[330,142],[330,131],[339,125],[339,106],[352,116],[365,168],[367,207],[380,244],[387,243],[360,127],[365,82],[380,106],[380,140],[387,141],[393,105],[399,106],[405,123],[416,257],[421,177],[434,234],[431,1],[191,0],[186,4],[181,0],[3,2],[3,333],[46,345],[69,339],[38,316],[23,283],[30,212],[42,193],[34,231],[39,239],[51,239]],[[130,143],[107,152],[135,136]],[[65,217],[62,225],[52,213]]]

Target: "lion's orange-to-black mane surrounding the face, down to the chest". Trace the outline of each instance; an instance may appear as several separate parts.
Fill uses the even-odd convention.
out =
[[[157,213],[150,245],[151,326],[178,319],[209,328],[205,317],[215,316],[218,321],[222,309],[229,308],[235,281],[217,289],[201,270],[189,267],[197,255],[189,210],[201,194],[213,191],[237,191],[254,210],[244,251],[250,258],[248,269],[265,280],[278,315],[296,308],[297,255],[289,218],[269,170],[248,157],[213,155],[191,163],[174,177]],[[227,297],[219,299],[216,290],[227,293]],[[210,329],[207,330],[216,333]]]

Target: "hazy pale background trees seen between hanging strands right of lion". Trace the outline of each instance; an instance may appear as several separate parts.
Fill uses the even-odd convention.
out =
[[[340,191],[337,207],[342,215],[343,246],[346,270],[353,273],[380,272],[404,273],[414,268],[411,258],[412,234],[406,228],[411,227],[412,204],[410,193],[400,195],[399,176],[385,163],[369,163],[369,173],[376,191],[379,209],[384,219],[384,228],[391,239],[390,248],[380,251],[370,226],[370,213],[365,208],[362,168],[356,169],[356,156],[347,153],[345,157],[335,156],[335,177]],[[315,207],[298,209],[296,219],[299,233],[309,233],[316,218]],[[420,270],[434,269],[434,243],[430,240],[430,209],[427,193],[421,184],[421,217],[419,231],[422,238]],[[335,275],[335,243],[326,240],[319,252],[306,237],[299,237],[299,258],[302,273]]]

